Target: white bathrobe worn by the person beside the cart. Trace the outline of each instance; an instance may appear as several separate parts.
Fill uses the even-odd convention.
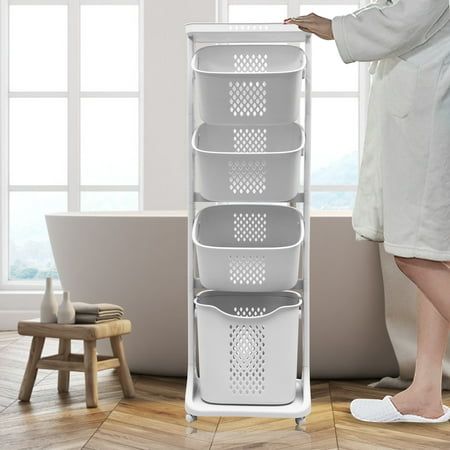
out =
[[[372,63],[357,240],[450,260],[449,0],[382,0],[335,17],[345,63]]]

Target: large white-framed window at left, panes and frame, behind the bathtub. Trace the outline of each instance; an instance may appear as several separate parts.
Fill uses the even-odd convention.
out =
[[[0,1],[0,284],[26,288],[57,277],[45,214],[140,209],[143,0]]]

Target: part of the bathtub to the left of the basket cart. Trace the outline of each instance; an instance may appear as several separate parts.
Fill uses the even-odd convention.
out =
[[[56,266],[73,300],[122,305],[131,371],[186,367],[186,216],[183,211],[46,216]],[[99,343],[109,352],[107,341]]]

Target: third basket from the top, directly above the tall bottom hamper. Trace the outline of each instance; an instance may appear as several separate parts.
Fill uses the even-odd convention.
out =
[[[295,208],[229,204],[201,210],[192,239],[207,289],[269,292],[298,280],[303,218]]]

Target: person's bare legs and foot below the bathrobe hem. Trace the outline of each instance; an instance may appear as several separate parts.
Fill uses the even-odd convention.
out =
[[[450,311],[450,269],[446,263],[417,258],[395,257],[395,260],[419,289],[414,379],[406,390],[393,397],[393,402],[402,413],[439,417],[443,413],[442,360],[450,325],[444,317]]]

